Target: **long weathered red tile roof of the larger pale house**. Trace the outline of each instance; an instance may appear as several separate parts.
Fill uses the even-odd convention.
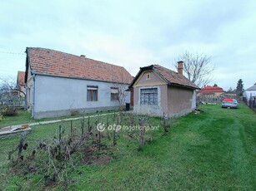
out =
[[[27,47],[28,63],[33,72],[43,75],[82,78],[129,84],[133,81],[123,66],[95,61],[62,51]]]

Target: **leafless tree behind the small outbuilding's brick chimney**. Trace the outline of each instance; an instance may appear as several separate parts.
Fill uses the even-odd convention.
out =
[[[214,66],[210,66],[211,58],[202,54],[191,54],[185,51],[176,59],[175,66],[178,68],[177,61],[183,61],[183,71],[189,81],[198,87],[203,87],[213,80]]]

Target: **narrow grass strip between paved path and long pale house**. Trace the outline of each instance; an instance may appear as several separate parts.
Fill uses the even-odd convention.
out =
[[[108,110],[108,111],[100,111],[99,114],[114,112],[117,110]],[[54,118],[43,118],[40,120],[34,120],[31,118],[31,114],[27,110],[18,110],[18,115],[15,116],[4,116],[3,120],[0,120],[0,128],[10,126],[10,125],[23,125],[33,122],[46,121],[46,120],[63,120],[68,118],[76,118],[87,115],[96,115],[98,113],[88,113],[88,114],[78,114],[78,115],[68,115],[62,117],[54,117]]]

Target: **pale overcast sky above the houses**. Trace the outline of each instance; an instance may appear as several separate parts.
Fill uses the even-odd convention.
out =
[[[26,47],[81,54],[124,66],[172,70],[184,51],[204,53],[214,83],[256,82],[256,1],[0,0],[0,77],[25,70]],[[13,52],[18,54],[4,53]]]

